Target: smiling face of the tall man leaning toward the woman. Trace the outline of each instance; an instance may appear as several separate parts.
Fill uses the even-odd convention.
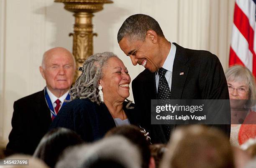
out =
[[[163,60],[158,55],[160,52],[157,44],[154,44],[154,40],[154,35],[146,35],[144,41],[129,40],[128,37],[123,37],[119,42],[119,46],[131,58],[133,65],[139,64],[150,72],[156,72],[163,64]]]

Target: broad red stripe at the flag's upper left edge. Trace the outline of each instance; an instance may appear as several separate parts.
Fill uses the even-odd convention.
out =
[[[238,30],[241,32],[243,37],[246,38],[249,44],[249,49],[251,53],[255,55],[253,51],[254,31],[250,25],[248,17],[244,14],[244,12],[240,9],[240,7],[238,7],[236,3],[235,3],[235,12],[234,12],[234,24],[236,25]]]

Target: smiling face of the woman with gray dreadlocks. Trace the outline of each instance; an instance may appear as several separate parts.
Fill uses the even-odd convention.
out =
[[[111,57],[102,68],[102,86],[104,101],[124,101],[130,96],[130,75],[123,62],[117,57]]]

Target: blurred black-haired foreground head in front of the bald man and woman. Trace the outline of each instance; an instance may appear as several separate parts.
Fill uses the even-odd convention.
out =
[[[74,131],[54,128],[41,139],[33,156],[42,159],[49,167],[54,167],[65,148],[82,142],[82,138]]]

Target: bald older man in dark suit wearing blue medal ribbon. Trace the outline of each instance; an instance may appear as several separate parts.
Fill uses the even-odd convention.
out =
[[[55,47],[46,51],[39,69],[46,87],[14,102],[13,128],[6,147],[8,154],[33,155],[51,121],[64,106],[64,99],[70,97],[68,92],[74,79],[75,61],[67,49]]]

